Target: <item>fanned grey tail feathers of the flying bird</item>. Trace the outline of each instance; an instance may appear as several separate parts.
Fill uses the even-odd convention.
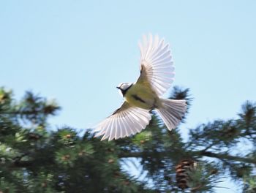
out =
[[[186,100],[161,99],[162,107],[156,109],[169,130],[176,128],[187,110]]]

